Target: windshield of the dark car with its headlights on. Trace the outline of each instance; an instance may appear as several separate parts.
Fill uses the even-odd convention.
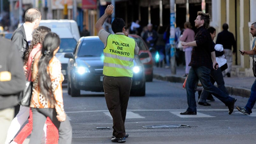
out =
[[[100,40],[84,40],[77,56],[101,56],[104,44]]]

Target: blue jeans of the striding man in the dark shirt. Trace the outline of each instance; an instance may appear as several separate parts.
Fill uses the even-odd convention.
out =
[[[205,66],[190,68],[187,76],[187,83],[186,83],[188,112],[196,112],[195,86],[198,80],[200,80],[205,90],[212,93],[215,97],[217,97],[223,103],[229,104],[233,101],[234,98],[230,97],[228,94],[216,88],[211,83],[210,72],[211,72],[211,69]]]

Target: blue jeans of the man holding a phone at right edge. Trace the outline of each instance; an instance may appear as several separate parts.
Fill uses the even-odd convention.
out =
[[[252,88],[251,88],[251,95],[247,101],[247,104],[245,106],[245,109],[247,112],[252,113],[252,108],[255,104],[256,101],[256,79],[254,81],[254,83],[252,84]]]

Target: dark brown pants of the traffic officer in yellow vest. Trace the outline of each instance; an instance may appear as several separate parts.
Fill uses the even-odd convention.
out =
[[[125,137],[125,117],[132,78],[104,76],[103,86],[107,108],[113,118],[113,135]]]

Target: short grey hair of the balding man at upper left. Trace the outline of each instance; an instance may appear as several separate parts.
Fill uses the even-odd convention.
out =
[[[41,17],[41,12],[37,8],[30,8],[25,13],[25,22],[34,22]]]

